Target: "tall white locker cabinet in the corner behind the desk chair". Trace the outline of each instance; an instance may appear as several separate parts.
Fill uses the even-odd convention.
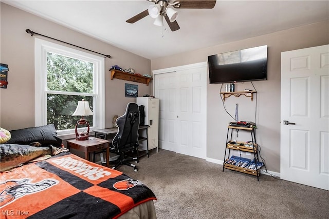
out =
[[[159,145],[159,99],[152,97],[137,97],[136,103],[138,106],[144,106],[145,118],[144,125],[149,125],[148,128],[148,144],[149,150],[156,148],[158,152]],[[146,130],[141,130],[145,132]],[[146,133],[140,133],[143,136],[146,136]],[[147,149],[146,141],[139,143],[139,147],[143,150]]]

